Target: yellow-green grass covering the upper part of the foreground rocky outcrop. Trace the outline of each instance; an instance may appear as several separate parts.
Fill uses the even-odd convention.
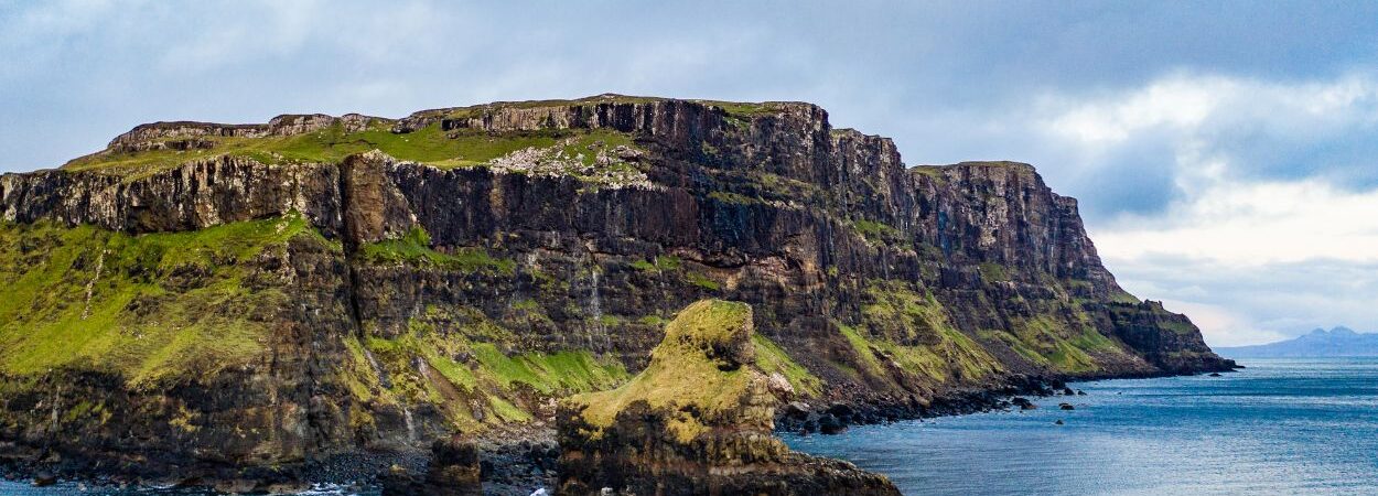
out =
[[[580,394],[572,401],[584,405],[584,420],[598,428],[612,426],[627,405],[645,401],[652,409],[674,412],[667,427],[688,444],[712,419],[734,416],[754,378],[761,378],[747,366],[722,369],[708,354],[748,339],[743,333],[751,333],[751,307],[745,303],[693,303],[666,325],[666,338],[652,351],[645,371],[615,390]]]

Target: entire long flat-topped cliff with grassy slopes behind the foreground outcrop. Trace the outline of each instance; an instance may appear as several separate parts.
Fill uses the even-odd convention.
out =
[[[0,438],[77,449],[81,433],[105,453],[214,464],[225,415],[252,433],[229,462],[278,464],[506,433],[626,380],[703,298],[755,309],[761,368],[802,400],[889,415],[1021,375],[1229,365],[1115,284],[1075,200],[1032,167],[905,168],[889,139],[812,105],[605,95],[274,123],[141,127],[63,169],[0,176],[0,373],[26,398],[0,402]],[[234,256],[135,242],[265,219],[300,229]],[[102,252],[125,276],[110,281]],[[149,317],[172,307],[200,310]],[[106,353],[153,327],[192,350],[225,328],[252,346],[150,382],[201,360]],[[70,332],[95,338],[52,344]],[[194,434],[113,427],[174,423]]]

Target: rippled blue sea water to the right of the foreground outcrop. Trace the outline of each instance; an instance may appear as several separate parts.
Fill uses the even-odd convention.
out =
[[[1072,384],[1087,395],[1031,398],[1036,411],[785,441],[907,495],[1378,495],[1378,360],[1243,364]]]

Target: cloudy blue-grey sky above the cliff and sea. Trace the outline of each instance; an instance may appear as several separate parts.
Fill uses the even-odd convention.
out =
[[[806,101],[1016,160],[1213,346],[1378,331],[1372,1],[0,0],[0,172],[158,120],[604,92]]]

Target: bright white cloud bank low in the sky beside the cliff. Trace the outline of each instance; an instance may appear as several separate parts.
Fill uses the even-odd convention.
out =
[[[1175,73],[1116,94],[1045,96],[1031,112],[1049,116],[1032,120],[1049,147],[1072,150],[1064,156],[1076,160],[1073,176],[1131,174],[1115,158],[1160,153],[1173,200],[1101,219],[1093,240],[1127,289],[1186,313],[1209,343],[1378,320],[1378,187],[1271,174],[1287,168],[1280,156],[1368,139],[1378,123],[1372,76],[1276,83]]]

